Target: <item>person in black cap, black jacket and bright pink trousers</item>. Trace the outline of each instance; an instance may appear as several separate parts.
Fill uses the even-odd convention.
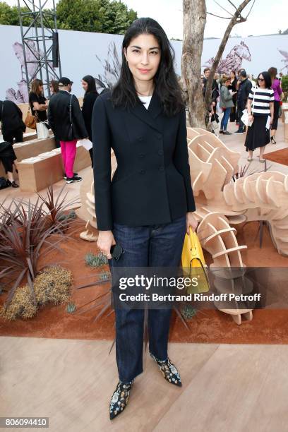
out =
[[[73,81],[69,78],[60,78],[59,92],[50,99],[48,107],[49,126],[61,145],[66,183],[82,180],[73,172],[73,164],[77,140],[88,138],[78,99],[70,94],[72,84]]]

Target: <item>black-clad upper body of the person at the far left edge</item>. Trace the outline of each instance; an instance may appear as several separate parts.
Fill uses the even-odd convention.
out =
[[[0,121],[4,141],[13,145],[23,142],[26,126],[22,120],[22,111],[11,100],[0,100]]]

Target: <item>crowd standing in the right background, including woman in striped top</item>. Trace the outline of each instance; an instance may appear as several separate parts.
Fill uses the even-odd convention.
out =
[[[205,97],[210,68],[203,71],[202,89]],[[265,162],[263,153],[265,145],[276,144],[275,136],[283,92],[281,77],[277,78],[277,68],[259,73],[256,80],[253,75],[247,75],[245,69],[229,75],[215,73],[210,95],[211,121],[217,121],[217,104],[222,110],[220,131],[223,135],[246,133],[245,147],[248,152],[248,162],[253,160],[253,151],[260,148],[260,162]],[[238,126],[236,131],[227,131],[228,123]],[[247,130],[246,130],[247,128]]]

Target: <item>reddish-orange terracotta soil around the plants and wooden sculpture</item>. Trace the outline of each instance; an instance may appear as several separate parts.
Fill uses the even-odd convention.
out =
[[[282,162],[283,163],[283,162]],[[73,272],[74,288],[71,302],[75,302],[78,311],[67,313],[66,304],[60,306],[44,306],[35,318],[30,320],[18,319],[8,322],[0,319],[0,335],[22,337],[52,337],[65,339],[87,340],[113,340],[114,339],[114,312],[104,313],[98,320],[94,320],[100,311],[92,309],[80,313],[79,308],[92,302],[100,294],[109,290],[109,282],[95,287],[77,289],[80,285],[97,280],[100,273],[109,271],[108,265],[92,269],[85,265],[86,253],[97,253],[95,243],[83,241],[78,233],[84,230],[85,224],[78,220],[79,229],[61,243],[63,253],[53,251],[42,261],[44,264],[59,263]],[[263,246],[259,248],[256,239],[258,222],[249,222],[243,228],[238,225],[237,239],[239,244],[246,244],[247,250],[242,252],[244,263],[247,266],[287,267],[288,258],[280,256],[270,239],[268,229],[264,230]],[[205,254],[207,263],[210,256]],[[0,304],[4,304],[6,293],[0,296]],[[89,305],[92,306],[93,302]],[[111,311],[111,310],[110,310]],[[251,344],[287,344],[288,343],[288,310],[256,310],[253,311],[253,320],[244,320],[242,325],[236,325],[231,316],[217,310],[198,311],[196,316],[189,320],[190,331],[184,328],[181,320],[173,313],[170,330],[172,342],[207,342],[207,343],[251,343]]]

